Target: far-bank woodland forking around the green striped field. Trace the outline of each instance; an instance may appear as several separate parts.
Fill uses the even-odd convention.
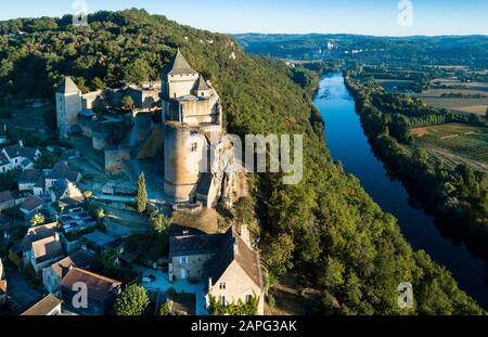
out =
[[[455,225],[470,244],[488,254],[488,176],[466,165],[449,168],[438,159],[432,167],[427,152],[415,146],[410,132],[413,127],[445,122],[484,124],[475,115],[437,109],[415,98],[387,92],[351,73],[346,85],[375,153],[427,211]]]

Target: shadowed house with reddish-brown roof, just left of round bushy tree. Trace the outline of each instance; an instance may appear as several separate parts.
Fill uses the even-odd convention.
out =
[[[85,315],[103,315],[112,311],[116,297],[120,294],[121,283],[79,268],[72,268],[61,282],[61,294],[65,303],[73,303],[77,294],[74,285],[81,282],[87,285],[87,308],[73,308]]]

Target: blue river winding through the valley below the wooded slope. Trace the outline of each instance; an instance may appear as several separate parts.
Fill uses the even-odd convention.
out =
[[[362,131],[355,102],[344,85],[342,74],[330,74],[321,82],[313,101],[325,120],[325,138],[334,160],[359,178],[361,185],[384,211],[393,213],[413,249],[424,249],[445,265],[460,287],[488,309],[488,268],[461,242],[444,237],[433,218],[409,203],[403,185],[386,174]]]

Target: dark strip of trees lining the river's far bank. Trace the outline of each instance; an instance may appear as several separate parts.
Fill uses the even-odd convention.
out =
[[[467,165],[449,168],[439,159],[435,159],[437,163],[433,168],[426,151],[406,145],[411,143],[408,125],[401,126],[401,132],[394,132],[391,129],[398,127],[385,121],[401,117],[408,122],[408,117],[384,114],[375,106],[380,99],[370,99],[364,86],[347,77],[345,83],[355,99],[356,112],[373,152],[389,174],[403,183],[411,197],[436,218],[447,235],[464,241],[471,250],[488,260],[486,173]]]

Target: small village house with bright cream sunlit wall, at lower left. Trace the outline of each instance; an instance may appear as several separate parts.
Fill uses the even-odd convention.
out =
[[[30,264],[37,273],[64,257],[63,245],[57,233],[33,242],[30,247]]]

